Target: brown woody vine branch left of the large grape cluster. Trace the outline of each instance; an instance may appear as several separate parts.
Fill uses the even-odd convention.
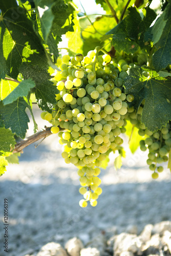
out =
[[[51,126],[52,127],[52,126]],[[51,127],[46,127],[45,126],[45,130],[37,132],[31,136],[29,136],[27,139],[24,139],[22,141],[19,141],[15,144],[15,148],[14,151],[12,152],[14,153],[23,153],[23,149],[29,145],[31,145],[32,143],[40,140],[40,139],[45,139],[46,137],[48,137],[49,135],[51,135]],[[60,128],[60,131],[62,131],[63,129]],[[42,140],[41,140],[42,141]],[[40,143],[38,143],[39,145]],[[35,146],[36,147],[36,146]]]

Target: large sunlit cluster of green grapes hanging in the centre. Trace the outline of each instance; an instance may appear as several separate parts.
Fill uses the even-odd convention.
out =
[[[121,148],[119,136],[126,131],[127,102],[133,95],[125,95],[123,79],[130,66],[124,60],[111,61],[108,54],[99,55],[99,48],[86,57],[76,54],[58,59],[53,80],[59,93],[53,113],[42,112],[41,117],[53,126],[63,144],[62,157],[66,163],[78,167],[80,194],[79,205],[86,207],[90,201],[97,205],[102,193],[100,166],[111,151]],[[59,132],[60,129],[64,131]]]

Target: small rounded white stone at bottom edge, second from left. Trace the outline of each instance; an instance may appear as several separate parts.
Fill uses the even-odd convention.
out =
[[[83,244],[78,238],[72,238],[66,243],[65,248],[69,255],[79,256],[80,250],[83,248]]]

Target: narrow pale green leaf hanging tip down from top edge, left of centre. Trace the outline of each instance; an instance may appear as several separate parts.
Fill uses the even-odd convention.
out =
[[[55,2],[55,0],[34,0],[36,12],[41,24],[42,35],[44,36],[46,43],[54,20],[52,7]]]

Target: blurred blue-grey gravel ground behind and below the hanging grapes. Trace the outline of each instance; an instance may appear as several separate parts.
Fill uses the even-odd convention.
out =
[[[40,128],[44,121],[34,110]],[[27,136],[32,134],[32,126]],[[0,179],[0,255],[4,252],[4,199],[8,199],[8,255],[24,256],[48,242],[62,246],[73,237],[86,244],[101,232],[117,233],[136,225],[138,233],[148,224],[171,221],[171,175],[166,168],[158,180],[146,166],[146,155],[130,152],[120,170],[113,167],[114,156],[102,170],[103,193],[96,207],[80,208],[82,196],[75,166],[61,158],[61,145],[51,135],[37,148],[24,149],[19,165],[10,164]]]

